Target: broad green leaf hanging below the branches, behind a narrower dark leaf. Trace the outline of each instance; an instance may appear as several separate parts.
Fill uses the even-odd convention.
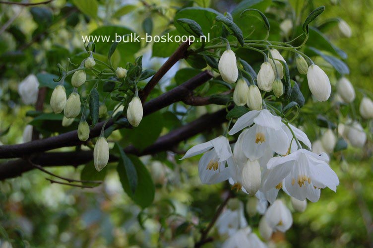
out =
[[[117,166],[119,179],[122,183],[124,191],[127,195],[140,207],[146,208],[152,204],[155,194],[155,186],[150,177],[149,171],[145,168],[144,164],[133,155],[128,155],[132,161],[137,174],[137,187],[133,193],[128,182],[128,177],[124,166]]]

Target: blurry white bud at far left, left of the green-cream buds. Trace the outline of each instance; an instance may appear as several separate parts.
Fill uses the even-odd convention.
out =
[[[18,85],[18,94],[24,104],[35,104],[38,100],[39,81],[34,74],[28,75]]]

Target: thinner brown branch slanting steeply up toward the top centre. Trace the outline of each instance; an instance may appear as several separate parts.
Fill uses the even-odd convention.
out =
[[[170,58],[159,68],[157,73],[154,74],[154,76],[150,79],[150,81],[145,85],[143,90],[139,92],[139,96],[141,99],[141,102],[144,104],[146,101],[146,98],[148,98],[150,92],[153,90],[153,88],[157,85],[159,80],[171,69],[171,67],[178,62],[179,60],[186,57],[186,51],[190,47],[192,42],[187,41],[184,42],[180,47],[171,55]]]

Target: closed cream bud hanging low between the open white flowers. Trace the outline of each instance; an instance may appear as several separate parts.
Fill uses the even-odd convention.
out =
[[[242,186],[246,189],[249,195],[254,195],[261,184],[260,165],[257,160],[246,162],[242,169]]]

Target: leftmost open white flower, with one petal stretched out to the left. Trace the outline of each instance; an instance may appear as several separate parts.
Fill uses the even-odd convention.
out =
[[[226,137],[219,136],[205,143],[190,148],[182,159],[204,153],[198,163],[199,178],[203,184],[216,184],[228,180],[229,169],[225,167],[233,163],[232,150]]]

